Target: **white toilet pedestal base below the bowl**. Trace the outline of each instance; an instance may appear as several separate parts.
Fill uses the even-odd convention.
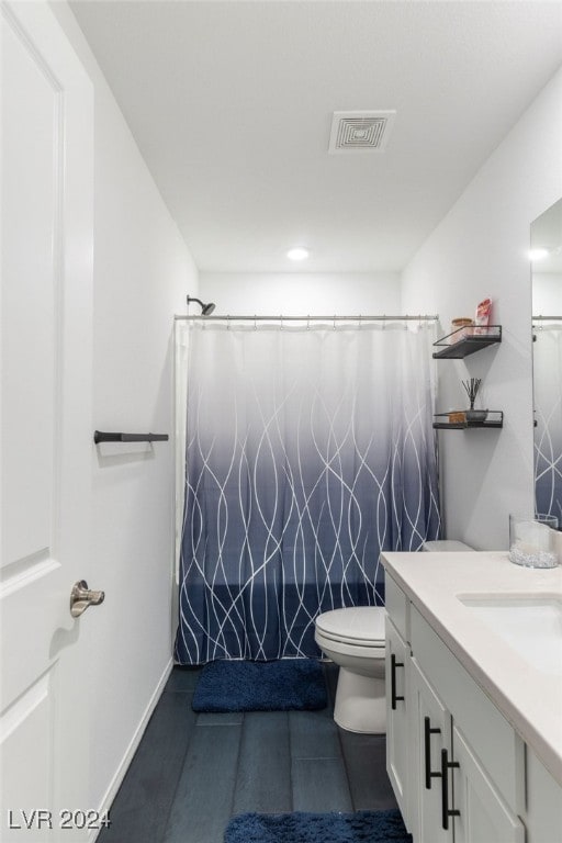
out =
[[[340,667],[334,720],[348,732],[383,734],[386,731],[384,678],[360,676]]]

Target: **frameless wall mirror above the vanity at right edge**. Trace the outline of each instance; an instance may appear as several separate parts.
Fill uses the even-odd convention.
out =
[[[562,528],[562,199],[531,224],[536,510]]]

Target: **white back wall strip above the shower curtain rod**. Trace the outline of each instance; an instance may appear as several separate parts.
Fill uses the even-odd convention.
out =
[[[400,276],[202,272],[203,301],[224,315],[400,314]],[[192,313],[196,313],[193,310]]]

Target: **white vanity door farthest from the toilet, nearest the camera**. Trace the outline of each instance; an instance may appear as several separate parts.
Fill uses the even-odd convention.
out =
[[[454,843],[525,843],[525,828],[506,806],[458,727],[452,735],[456,766]]]

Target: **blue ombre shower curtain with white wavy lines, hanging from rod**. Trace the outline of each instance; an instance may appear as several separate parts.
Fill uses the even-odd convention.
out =
[[[428,323],[196,322],[176,659],[314,656],[382,604],[381,550],[439,536]]]

